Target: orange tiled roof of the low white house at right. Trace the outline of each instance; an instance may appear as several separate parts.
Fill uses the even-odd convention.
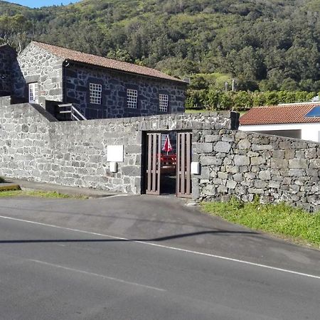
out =
[[[316,105],[320,102],[254,107],[240,117],[240,125],[320,122],[320,117],[305,117]]]

